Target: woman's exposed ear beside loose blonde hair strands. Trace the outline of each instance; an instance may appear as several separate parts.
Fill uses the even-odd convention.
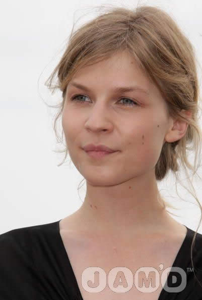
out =
[[[187,117],[192,116],[192,112],[181,110],[181,112],[185,113]],[[165,135],[165,141],[174,142],[182,138],[187,130],[188,123],[186,121],[180,121],[179,119],[173,120],[171,119],[171,125]]]

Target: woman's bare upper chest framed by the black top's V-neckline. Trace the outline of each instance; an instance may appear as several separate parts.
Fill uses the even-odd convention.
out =
[[[158,300],[165,284],[161,274],[173,265],[183,240],[117,243],[60,235],[84,300]]]

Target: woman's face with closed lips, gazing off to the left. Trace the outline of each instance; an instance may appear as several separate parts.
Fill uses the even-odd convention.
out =
[[[134,90],[118,92],[117,87]],[[168,126],[160,91],[125,52],[84,67],[67,87],[62,112],[66,144],[76,168],[92,185],[116,185],[149,172],[154,175]],[[118,152],[95,159],[82,149],[89,143]]]

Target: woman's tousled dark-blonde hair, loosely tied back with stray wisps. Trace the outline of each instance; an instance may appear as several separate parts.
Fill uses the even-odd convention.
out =
[[[180,165],[193,188],[193,193],[188,191],[196,199],[202,215],[201,205],[187,172],[189,169],[193,175],[197,175],[201,160],[202,136],[197,115],[201,109],[196,56],[189,39],[168,13],[151,6],[140,6],[136,9],[107,8],[107,11],[82,25],[74,33],[73,29],[62,58],[45,82],[52,93],[57,88],[62,91],[62,101],[56,106],[51,106],[58,109],[54,120],[57,141],[62,143],[63,140],[63,131],[61,138],[57,135],[56,122],[61,117],[66,87],[73,76],[84,66],[105,60],[116,52],[127,51],[158,86],[170,116],[188,123],[186,133],[181,139],[165,142],[162,146],[155,166],[156,180],[161,181],[171,170],[176,176],[177,190]],[[53,84],[55,77],[57,82]],[[191,112],[191,115],[186,115],[185,111]],[[194,153],[193,166],[188,162],[188,151]],[[65,152],[62,163],[58,165],[60,166],[68,155],[67,145],[62,151],[56,152]],[[186,187],[185,189],[187,190]],[[162,201],[165,208],[174,208],[163,198]],[[202,216],[200,222],[201,218]],[[191,244],[191,262],[197,230]]]

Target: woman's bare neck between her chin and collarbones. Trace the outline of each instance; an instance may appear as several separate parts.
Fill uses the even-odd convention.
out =
[[[128,181],[118,186],[93,186],[87,182],[84,203],[74,216],[82,231],[120,238],[134,232],[169,232],[176,223],[165,210],[154,182],[137,187]]]

